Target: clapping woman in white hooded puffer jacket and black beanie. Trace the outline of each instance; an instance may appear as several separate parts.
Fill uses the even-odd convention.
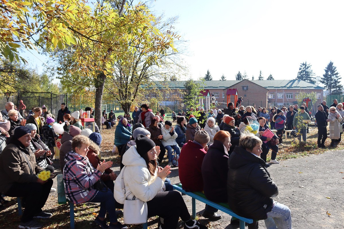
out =
[[[161,192],[164,180],[171,173],[171,167],[157,167],[160,147],[144,135],[138,135],[136,146],[130,147],[123,155],[125,165],[115,182],[114,197],[120,204],[125,199],[138,198],[147,202],[148,217],[160,217],[160,229],[177,228],[179,217],[185,222],[184,228],[206,229],[192,220],[181,194],[177,191]],[[122,191],[122,176],[125,194]]]

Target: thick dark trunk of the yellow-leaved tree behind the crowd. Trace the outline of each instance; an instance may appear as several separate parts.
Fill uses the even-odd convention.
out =
[[[105,80],[105,74],[103,72],[100,72],[95,82],[96,98],[94,103],[94,118],[99,128],[101,127],[101,103],[103,102]]]

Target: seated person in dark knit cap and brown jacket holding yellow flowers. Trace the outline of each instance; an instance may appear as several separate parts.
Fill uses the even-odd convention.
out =
[[[30,149],[31,130],[25,126],[14,129],[8,145],[0,156],[0,192],[10,197],[23,197],[25,210],[19,228],[41,228],[33,218],[50,218],[42,210],[53,180],[42,181],[36,174],[43,171]]]

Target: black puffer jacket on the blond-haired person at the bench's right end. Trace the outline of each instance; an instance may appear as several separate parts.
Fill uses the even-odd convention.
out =
[[[228,159],[228,205],[238,215],[255,220],[267,219],[277,185],[270,178],[266,163],[243,148],[235,147]]]

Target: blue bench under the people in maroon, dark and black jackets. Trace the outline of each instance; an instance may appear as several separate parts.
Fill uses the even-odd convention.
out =
[[[191,196],[192,197],[192,217],[195,218],[196,217],[196,199],[198,201],[201,201],[209,206],[212,206],[216,209],[219,209],[221,211],[223,211],[224,213],[227,213],[228,215],[235,217],[237,219],[239,219],[240,221],[240,229],[245,229],[245,222],[247,222],[248,224],[251,224],[253,222],[253,219],[248,219],[248,218],[244,218],[241,216],[238,216],[237,214],[235,214],[232,210],[230,210],[228,204],[226,203],[214,203],[212,201],[209,201],[204,193],[201,192],[186,192],[185,190],[183,190],[182,188],[182,184],[174,184],[173,185],[173,189],[177,190],[181,193],[184,193],[185,195]]]

